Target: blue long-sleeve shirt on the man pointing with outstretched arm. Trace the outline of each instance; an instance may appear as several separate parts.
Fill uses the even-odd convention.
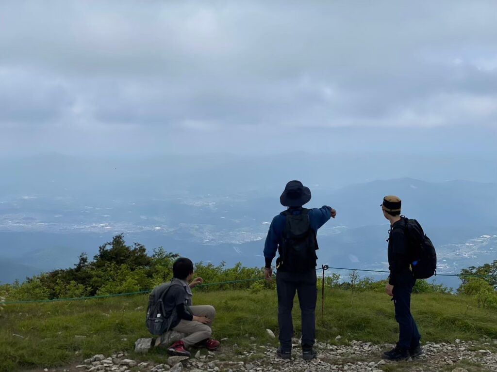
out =
[[[292,214],[300,214],[302,208],[290,208],[289,211]],[[323,226],[331,218],[331,207],[326,205],[321,208],[309,209],[309,223],[314,231]],[[265,267],[270,267],[273,261],[278,246],[281,244],[281,234],[285,227],[286,216],[283,212],[275,216],[269,226],[269,231],[267,232],[266,243],[264,244],[264,259]]]

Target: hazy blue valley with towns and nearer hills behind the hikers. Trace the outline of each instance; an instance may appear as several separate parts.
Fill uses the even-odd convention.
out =
[[[279,205],[283,186],[278,191],[261,187],[169,197],[137,193],[129,198],[93,200],[78,195],[4,197],[0,202],[0,281],[69,267],[79,253],[91,256],[118,233],[125,233],[129,243],[140,242],[149,249],[163,246],[194,261],[261,266],[269,223],[283,209]],[[496,257],[496,183],[403,178],[331,189],[310,186],[309,207],[326,204],[338,211],[337,218],[320,230],[320,263],[386,268],[389,226],[380,209],[386,194],[401,196],[404,213],[421,222],[438,248],[440,270],[459,272]]]

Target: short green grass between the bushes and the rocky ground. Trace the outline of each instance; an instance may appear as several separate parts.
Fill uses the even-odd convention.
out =
[[[127,351],[137,360],[164,362],[163,352],[134,355],[134,342],[151,337],[145,328],[148,296],[99,300],[8,305],[0,311],[0,372],[29,368],[50,368],[80,362],[94,354],[106,356]],[[478,309],[475,300],[452,295],[413,295],[412,310],[423,341],[454,342],[497,338],[497,311]],[[217,309],[215,337],[228,337],[228,346],[248,348],[249,337],[257,343],[271,342],[265,329],[277,334],[277,299],[274,291],[250,293],[223,291],[195,293],[194,304],[211,304]],[[300,334],[298,301],[294,323]],[[317,309],[317,338],[336,343],[351,340],[395,343],[398,325],[393,303],[381,293],[357,293],[329,289],[325,316],[321,318],[321,299]],[[14,336],[14,334],[22,336]],[[85,336],[77,338],[76,335]],[[248,335],[246,337],[245,335]],[[78,352],[78,354],[76,354]]]

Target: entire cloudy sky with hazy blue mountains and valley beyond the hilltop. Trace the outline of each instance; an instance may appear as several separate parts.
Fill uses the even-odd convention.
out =
[[[384,268],[385,194],[441,269],[495,256],[495,1],[5,0],[0,14],[5,278],[120,232],[258,265],[293,179],[337,207],[324,262]]]

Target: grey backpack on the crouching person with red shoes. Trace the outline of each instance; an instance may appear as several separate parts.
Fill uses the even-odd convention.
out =
[[[166,313],[166,307],[164,306],[164,299],[169,289],[174,284],[172,282],[161,284],[155,287],[149,295],[149,305],[147,307],[147,316],[145,318],[145,325],[150,333],[153,335],[162,335],[169,330],[173,319],[173,312],[176,309],[172,309]]]

